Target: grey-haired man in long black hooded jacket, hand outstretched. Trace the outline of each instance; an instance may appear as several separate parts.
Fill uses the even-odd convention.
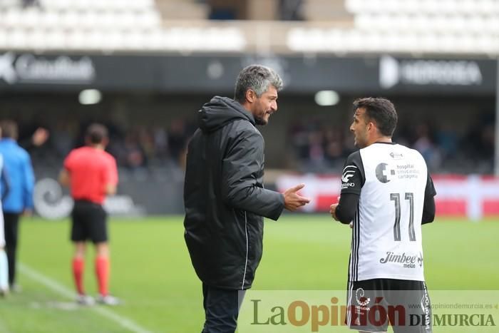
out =
[[[277,111],[282,80],[271,68],[244,68],[235,98],[215,96],[198,111],[185,173],[185,242],[202,281],[204,333],[235,332],[240,301],[262,258],[263,217],[277,220],[309,199],[263,186],[264,140],[254,125]]]

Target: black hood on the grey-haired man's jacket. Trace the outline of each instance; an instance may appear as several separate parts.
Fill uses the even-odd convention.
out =
[[[215,96],[197,111],[199,127],[205,133],[214,132],[237,119],[245,119],[254,125],[254,117],[232,98]]]

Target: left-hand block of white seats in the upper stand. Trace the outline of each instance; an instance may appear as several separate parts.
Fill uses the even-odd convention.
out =
[[[175,8],[175,10],[173,10]],[[192,10],[200,9],[200,10]],[[42,51],[238,51],[237,29],[225,26],[163,25],[161,15],[205,16],[194,1],[41,0],[0,4],[0,48]],[[180,15],[178,15],[180,13]]]

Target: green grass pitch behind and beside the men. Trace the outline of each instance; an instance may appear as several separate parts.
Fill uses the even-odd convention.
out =
[[[112,308],[73,304],[67,220],[24,218],[20,231],[23,291],[0,299],[0,332],[200,332],[201,285],[183,240],[182,217],[110,220],[110,288],[124,301]],[[349,227],[326,214],[267,220],[253,288],[344,290],[350,235]],[[424,225],[428,288],[499,290],[498,235],[495,220]],[[92,247],[85,281],[87,292],[96,294]]]

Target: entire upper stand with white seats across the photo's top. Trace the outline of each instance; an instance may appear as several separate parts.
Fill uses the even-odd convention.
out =
[[[264,39],[283,51],[279,46],[284,39],[288,52],[499,53],[499,2],[493,0],[295,0],[292,7],[285,0],[29,3],[1,2],[0,48],[235,52],[254,49]],[[239,3],[247,5],[244,11],[234,7]],[[277,6],[288,14],[279,14]],[[259,31],[275,33],[257,33],[255,41],[255,24],[207,21],[214,9],[233,12],[224,16],[219,10],[215,18],[256,19]],[[307,24],[277,25],[279,15]]]

